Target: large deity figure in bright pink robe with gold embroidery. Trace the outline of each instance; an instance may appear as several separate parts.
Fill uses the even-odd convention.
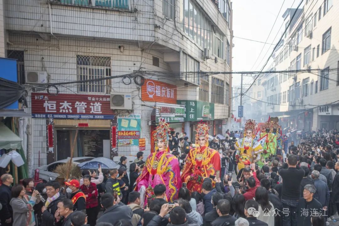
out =
[[[178,198],[181,188],[180,167],[177,157],[169,154],[169,124],[160,119],[159,126],[153,131],[155,152],[146,160],[145,167],[137,178],[136,191],[141,195],[141,205],[147,204],[147,198],[154,198],[153,188],[157,184],[166,186],[166,201],[173,202]]]

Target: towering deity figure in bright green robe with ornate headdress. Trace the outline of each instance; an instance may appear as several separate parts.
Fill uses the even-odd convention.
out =
[[[273,131],[273,122],[265,122],[265,132],[260,134],[260,137],[266,137],[266,143],[263,148],[262,153],[263,158],[268,158],[269,156],[275,155],[277,152],[277,136],[272,133]]]

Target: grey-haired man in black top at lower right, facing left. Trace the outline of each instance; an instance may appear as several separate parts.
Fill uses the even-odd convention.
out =
[[[313,184],[306,184],[304,187],[303,198],[299,199],[298,202],[298,215],[297,215],[297,224],[298,226],[308,226],[311,225],[311,216],[315,212],[322,212],[322,205],[318,200],[313,198],[313,195],[316,192],[316,188]]]

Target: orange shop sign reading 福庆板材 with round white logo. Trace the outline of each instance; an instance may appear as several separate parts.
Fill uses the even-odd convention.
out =
[[[141,100],[176,104],[177,86],[147,79],[141,86]]]

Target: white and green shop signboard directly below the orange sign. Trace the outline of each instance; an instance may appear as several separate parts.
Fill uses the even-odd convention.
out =
[[[184,122],[185,121],[185,107],[177,104],[156,103],[155,115],[151,115],[151,121],[159,122],[160,118],[165,119],[166,122]]]

